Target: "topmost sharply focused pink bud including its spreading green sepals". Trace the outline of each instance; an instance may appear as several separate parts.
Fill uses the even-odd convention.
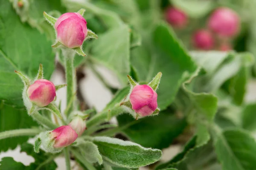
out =
[[[98,38],[93,31],[87,29],[87,22],[84,19],[84,9],[78,12],[62,14],[58,19],[44,12],[45,19],[55,28],[56,42],[53,48],[68,48],[76,51],[77,54],[85,56],[82,44],[90,38]]]

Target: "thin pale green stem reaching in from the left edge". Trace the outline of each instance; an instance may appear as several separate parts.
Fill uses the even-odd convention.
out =
[[[6,139],[15,136],[35,136],[40,133],[40,129],[16,129],[16,130],[7,130],[0,133],[0,140]]]

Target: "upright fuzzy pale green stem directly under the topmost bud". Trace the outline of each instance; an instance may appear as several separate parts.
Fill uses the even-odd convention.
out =
[[[73,95],[76,92],[76,79],[75,79],[75,69],[73,60],[76,52],[70,49],[64,48],[62,49],[62,54],[65,58],[65,73],[66,73],[66,81],[67,81],[67,105],[72,102],[72,105],[67,110],[67,114],[71,113],[75,109],[75,100],[73,99]],[[71,101],[73,100],[73,101]]]

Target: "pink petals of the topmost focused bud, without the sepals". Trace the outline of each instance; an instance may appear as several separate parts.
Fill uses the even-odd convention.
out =
[[[55,23],[57,40],[68,48],[80,47],[87,36],[87,22],[79,13],[62,14]]]

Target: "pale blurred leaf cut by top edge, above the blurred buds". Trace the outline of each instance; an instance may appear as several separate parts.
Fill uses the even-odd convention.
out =
[[[193,18],[204,17],[215,7],[212,0],[170,0],[170,2]]]

